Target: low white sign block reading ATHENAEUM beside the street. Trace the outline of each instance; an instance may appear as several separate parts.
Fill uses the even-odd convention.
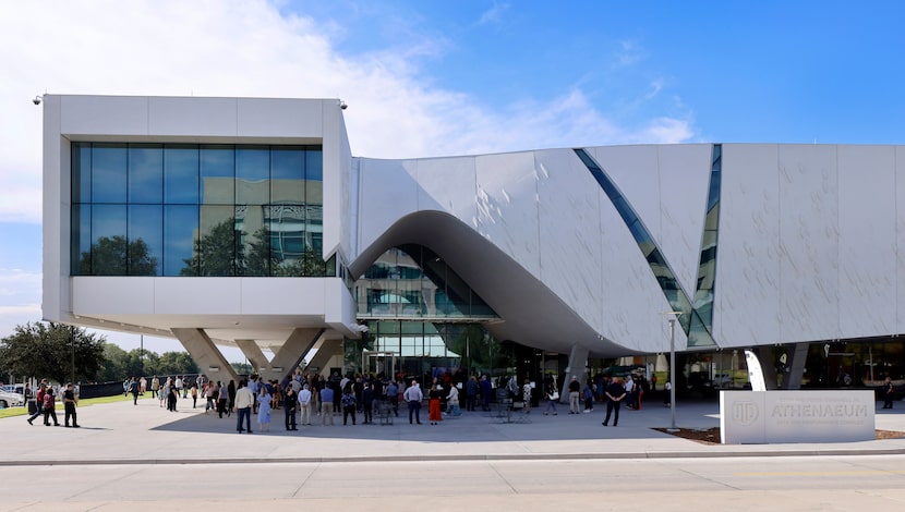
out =
[[[871,390],[721,391],[724,444],[874,439]]]

